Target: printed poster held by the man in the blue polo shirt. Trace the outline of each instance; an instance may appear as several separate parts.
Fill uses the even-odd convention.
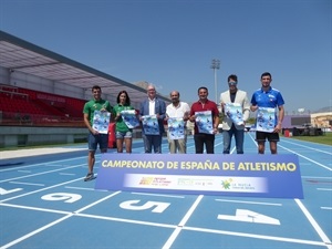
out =
[[[276,124],[276,108],[258,107],[256,131],[272,133]]]

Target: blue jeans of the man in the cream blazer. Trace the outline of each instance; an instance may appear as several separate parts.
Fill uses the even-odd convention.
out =
[[[229,154],[231,138],[235,136],[237,154],[243,154],[243,141],[245,141],[245,129],[237,129],[235,125],[231,125],[229,131],[224,131],[224,154]]]

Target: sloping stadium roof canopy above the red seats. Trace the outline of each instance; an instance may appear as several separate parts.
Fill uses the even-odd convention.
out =
[[[104,94],[115,97],[120,92],[118,90],[125,90],[129,94],[131,101],[135,103],[142,102],[147,96],[145,89],[37,46],[3,31],[0,31],[0,66],[85,90],[91,89],[93,84],[97,84],[102,87]],[[158,94],[157,96],[170,102],[169,98],[163,95]]]

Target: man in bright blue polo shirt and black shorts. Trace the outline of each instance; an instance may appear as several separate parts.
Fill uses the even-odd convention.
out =
[[[272,76],[270,73],[266,72],[261,74],[260,77],[261,89],[257,90],[251,97],[251,112],[257,112],[256,118],[256,141],[258,143],[258,153],[264,154],[266,151],[266,139],[268,138],[270,143],[271,154],[277,154],[277,143],[279,142],[279,133],[282,128],[282,121],[284,116],[283,104],[281,93],[271,87]],[[277,116],[277,108],[279,114]],[[270,118],[261,117],[261,113],[270,113]],[[271,124],[268,124],[270,121]],[[259,122],[261,122],[259,124]],[[268,126],[271,126],[269,129]],[[259,126],[263,127],[259,129]]]

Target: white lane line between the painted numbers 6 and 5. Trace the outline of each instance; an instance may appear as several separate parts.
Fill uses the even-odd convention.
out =
[[[43,226],[43,227],[41,227],[41,228],[39,228],[39,229],[35,229],[34,231],[31,231],[31,232],[29,232],[29,234],[27,234],[27,235],[24,235],[24,236],[22,236],[22,237],[20,237],[20,238],[18,238],[18,239],[15,239],[15,240],[12,240],[11,242],[9,242],[9,243],[7,243],[7,245],[3,245],[3,246],[1,247],[1,249],[10,248],[10,247],[12,247],[12,246],[14,246],[14,245],[17,245],[17,243],[23,241],[23,240],[25,240],[25,239],[28,239],[28,238],[30,238],[30,237],[37,235],[37,234],[43,231],[43,230],[46,230],[46,229],[50,228],[50,227],[53,227],[53,226],[56,225],[56,224],[62,222],[63,220],[66,220],[66,219],[71,218],[72,216],[77,215],[79,212],[81,212],[81,211],[83,211],[83,210],[85,210],[85,209],[87,209],[87,208],[90,208],[90,207],[92,207],[92,206],[94,206],[94,205],[97,205],[97,204],[100,204],[100,203],[102,203],[102,201],[104,201],[104,200],[106,200],[106,199],[112,198],[113,196],[115,196],[115,195],[117,195],[117,194],[120,194],[120,193],[121,193],[121,191],[113,193],[113,194],[111,194],[111,195],[108,195],[108,196],[106,196],[106,197],[104,197],[104,198],[102,198],[102,199],[100,199],[100,200],[97,200],[97,201],[95,201],[95,203],[92,203],[92,204],[90,204],[90,205],[87,205],[87,206],[85,206],[85,207],[83,207],[83,208],[81,208],[81,209],[74,211],[74,212],[71,212],[71,214],[69,214],[69,215],[66,215],[66,216],[64,216],[64,217],[62,217],[62,218],[60,218],[60,219],[56,219],[56,220],[54,220],[53,222],[50,222],[50,224],[48,224],[48,225],[45,225],[45,226]]]

